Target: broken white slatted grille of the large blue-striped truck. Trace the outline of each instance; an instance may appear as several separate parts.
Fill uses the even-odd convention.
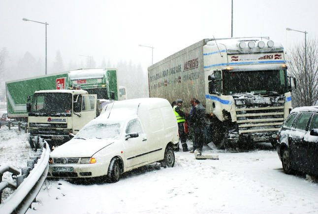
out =
[[[284,122],[284,99],[278,99],[271,106],[254,104],[251,107],[238,106],[236,118],[239,134],[256,132],[277,132]]]

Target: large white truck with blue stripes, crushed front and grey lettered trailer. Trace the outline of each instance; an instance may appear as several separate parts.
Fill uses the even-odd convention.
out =
[[[276,142],[292,109],[283,46],[269,37],[203,39],[148,68],[149,97],[206,108],[206,142],[219,148]]]

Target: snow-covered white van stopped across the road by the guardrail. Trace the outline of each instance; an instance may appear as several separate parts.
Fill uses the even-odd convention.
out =
[[[173,167],[178,124],[169,102],[142,98],[108,104],[75,137],[50,154],[49,178],[105,176],[117,182],[132,169]]]

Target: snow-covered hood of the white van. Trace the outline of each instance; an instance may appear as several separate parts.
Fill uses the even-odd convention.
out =
[[[50,157],[92,157],[100,149],[114,143],[114,139],[81,139],[73,138],[54,149]]]

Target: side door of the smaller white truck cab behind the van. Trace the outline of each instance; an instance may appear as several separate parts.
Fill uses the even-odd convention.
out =
[[[74,95],[72,128],[76,134],[83,126],[96,117],[96,101],[95,94]]]

